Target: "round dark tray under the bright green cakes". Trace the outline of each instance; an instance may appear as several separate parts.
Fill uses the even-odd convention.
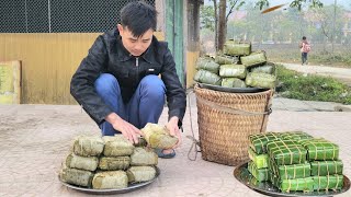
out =
[[[283,196],[283,197],[296,197],[296,196],[333,196],[344,193],[350,189],[350,179],[343,175],[343,187],[338,190],[319,190],[312,193],[304,192],[291,192],[282,193],[272,185],[271,182],[257,182],[256,178],[248,171],[248,163],[244,163],[234,170],[234,176],[249,188],[265,194],[269,196]]]

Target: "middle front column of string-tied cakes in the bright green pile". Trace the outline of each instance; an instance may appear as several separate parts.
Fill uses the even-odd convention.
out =
[[[283,192],[313,192],[310,165],[306,162],[307,150],[291,136],[312,138],[304,132],[287,132],[282,134],[281,139],[267,143],[271,182]]]

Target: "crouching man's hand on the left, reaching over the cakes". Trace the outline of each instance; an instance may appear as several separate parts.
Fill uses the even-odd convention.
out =
[[[128,139],[132,143],[138,143],[138,138],[143,135],[139,129],[134,127],[134,125],[122,119],[117,114],[111,113],[105,117],[105,120],[109,121],[115,130],[122,132],[122,135]]]

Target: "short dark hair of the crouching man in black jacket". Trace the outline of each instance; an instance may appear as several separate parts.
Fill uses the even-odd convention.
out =
[[[143,1],[134,1],[121,10],[121,24],[128,27],[132,34],[140,37],[148,30],[156,30],[156,9]]]

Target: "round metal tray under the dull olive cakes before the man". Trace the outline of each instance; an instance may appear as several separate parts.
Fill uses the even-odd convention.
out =
[[[71,185],[68,183],[63,182],[60,178],[59,182],[67,186],[68,188],[81,192],[81,193],[87,193],[87,194],[93,194],[93,195],[113,195],[113,194],[123,194],[123,193],[129,193],[136,189],[139,189],[141,187],[145,187],[147,185],[150,185],[152,182],[155,182],[155,179],[160,175],[160,170],[158,167],[156,167],[156,176],[148,181],[148,182],[143,182],[143,183],[134,183],[134,184],[129,184],[128,187],[126,188],[121,188],[121,189],[92,189],[92,188],[87,188],[87,187],[81,187],[81,186],[76,186],[76,185]]]

